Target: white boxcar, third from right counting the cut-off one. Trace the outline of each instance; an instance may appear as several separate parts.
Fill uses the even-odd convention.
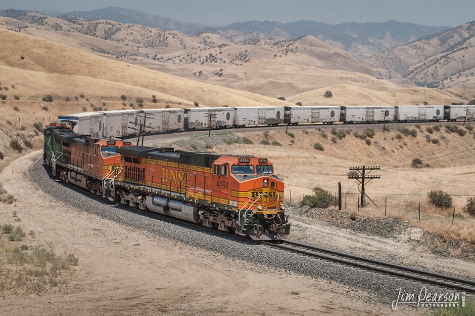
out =
[[[340,118],[344,123],[384,122],[394,120],[395,107],[390,105],[342,106]]]

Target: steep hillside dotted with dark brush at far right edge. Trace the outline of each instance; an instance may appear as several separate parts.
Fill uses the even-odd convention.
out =
[[[378,68],[438,88],[475,84],[475,21],[370,57]]]

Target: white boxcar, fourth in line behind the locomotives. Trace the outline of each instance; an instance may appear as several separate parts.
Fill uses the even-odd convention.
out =
[[[210,118],[211,117],[211,118]],[[203,127],[226,128],[233,125],[234,108],[190,108],[185,109],[185,129]]]

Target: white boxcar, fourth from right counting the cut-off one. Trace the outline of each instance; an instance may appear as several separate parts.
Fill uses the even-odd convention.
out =
[[[285,123],[297,125],[299,123],[332,124],[340,120],[340,107],[336,106],[288,106],[285,107]]]

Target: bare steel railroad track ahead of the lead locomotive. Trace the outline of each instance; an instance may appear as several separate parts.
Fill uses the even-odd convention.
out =
[[[289,240],[282,240],[281,243],[262,241],[261,244],[309,256],[312,258],[332,261],[339,264],[357,267],[368,271],[374,271],[389,276],[396,276],[399,278],[418,281],[424,284],[444,287],[450,290],[457,290],[475,294],[475,281],[472,280],[462,279],[453,276],[446,276],[410,267],[395,265],[384,261],[359,257],[347,253],[301,244]]]

